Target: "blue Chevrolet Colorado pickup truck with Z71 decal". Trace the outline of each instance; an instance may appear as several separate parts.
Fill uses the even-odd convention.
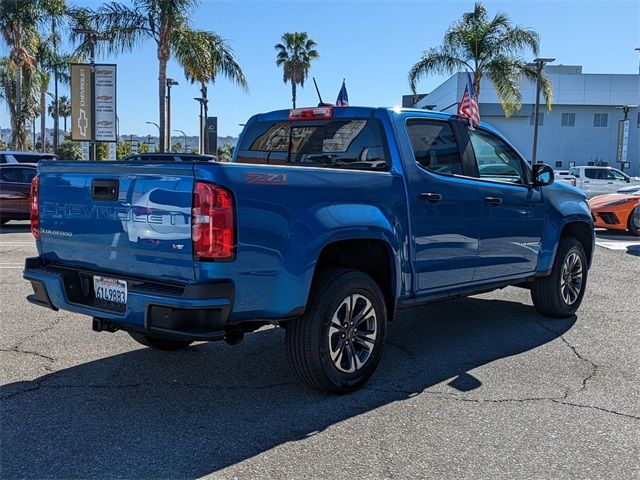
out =
[[[230,163],[41,162],[28,300],[175,350],[286,329],[309,386],[371,376],[400,309],[515,285],[578,309],[594,251],[583,193],[488,125],[420,110],[252,117]]]

